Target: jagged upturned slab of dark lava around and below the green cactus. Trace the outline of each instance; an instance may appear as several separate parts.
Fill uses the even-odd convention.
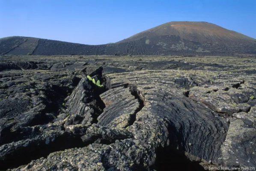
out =
[[[70,117],[65,122],[64,127],[72,124],[97,124],[98,116],[104,112],[105,103],[100,97],[100,94],[110,89],[110,79],[102,75],[102,67],[98,69],[86,68],[82,71],[85,75],[89,75],[97,82],[100,81],[104,88],[100,88],[87,76],[80,80],[77,88],[72,92],[67,101],[67,110]]]

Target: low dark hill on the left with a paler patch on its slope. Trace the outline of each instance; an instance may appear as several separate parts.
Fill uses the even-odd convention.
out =
[[[103,45],[104,47],[105,45]],[[42,38],[13,36],[0,39],[0,54],[14,55],[94,55],[101,53],[102,45],[85,45]]]

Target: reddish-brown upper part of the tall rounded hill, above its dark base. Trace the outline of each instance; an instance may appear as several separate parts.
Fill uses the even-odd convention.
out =
[[[164,36],[164,35],[176,35],[180,36],[182,39],[192,39],[193,41],[208,41],[207,38],[225,38],[230,39],[247,39],[255,40],[246,35],[219,27],[215,24],[207,22],[191,22],[191,21],[173,21],[169,23],[162,24],[160,26],[148,29],[146,31],[140,32],[136,35],[131,36],[123,41],[143,38],[153,37],[153,36]],[[119,42],[123,42],[119,41]]]

